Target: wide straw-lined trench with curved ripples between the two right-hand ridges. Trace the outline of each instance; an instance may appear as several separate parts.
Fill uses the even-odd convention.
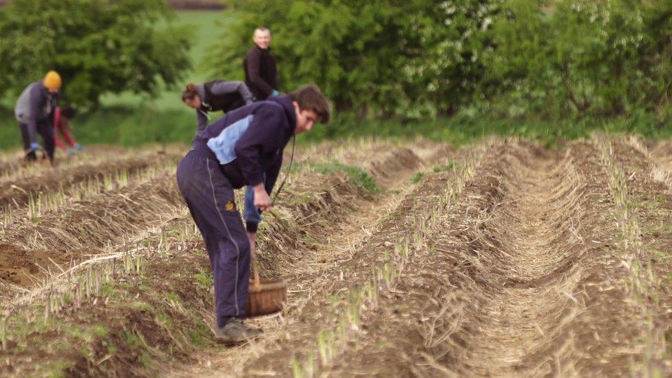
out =
[[[572,246],[584,240],[567,223],[578,218],[567,209],[581,178],[558,154],[515,160],[503,182],[507,195],[485,222],[485,238],[499,242],[499,251],[490,252],[501,271],[486,278],[492,286],[479,308],[482,321],[457,369],[479,375],[515,375],[576,312],[570,297],[580,271],[569,269],[582,253]],[[534,362],[543,366],[547,358]]]

